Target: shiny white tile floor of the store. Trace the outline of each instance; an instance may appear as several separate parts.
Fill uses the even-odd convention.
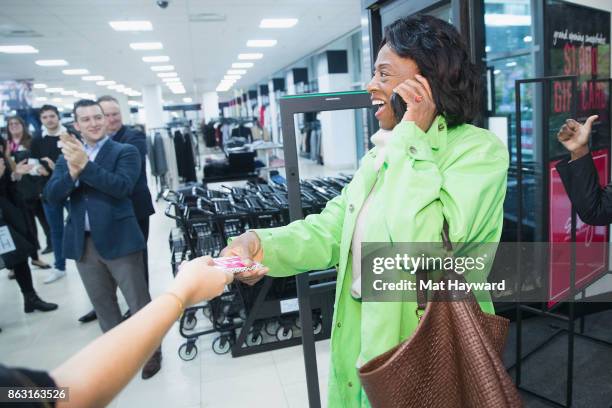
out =
[[[321,166],[307,164],[302,174],[309,177],[330,174]],[[322,174],[324,173],[324,174]],[[150,181],[150,186],[155,184]],[[173,222],[163,215],[164,205],[156,203],[151,217],[149,263],[151,295],[164,291],[172,275],[168,233]],[[40,234],[43,237],[42,233]],[[43,259],[52,262],[52,255]],[[39,295],[59,304],[51,313],[23,313],[23,301],[15,281],[0,271],[0,362],[6,365],[50,370],[101,334],[97,323],[81,324],[77,319],[91,309],[74,262],[68,261],[67,277],[43,283],[46,271],[33,269]],[[126,309],[125,301],[120,299]],[[301,346],[251,356],[232,358],[213,353],[214,335],[201,337],[199,353],[185,362],[177,350],[183,343],[178,323],[163,342],[162,370],[143,381],[137,376],[109,405],[110,407],[307,407],[306,376]],[[137,338],[134,341],[138,341]],[[329,341],[317,343],[317,360],[322,401],[327,399]]]

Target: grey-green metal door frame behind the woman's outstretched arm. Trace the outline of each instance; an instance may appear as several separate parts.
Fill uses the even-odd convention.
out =
[[[295,221],[304,217],[300,194],[300,172],[294,125],[295,114],[371,108],[372,102],[366,91],[351,91],[283,96],[280,98],[279,104],[289,198],[289,219]],[[327,135],[327,137],[333,137],[333,135]],[[321,407],[315,336],[312,329],[307,329],[312,327],[311,296],[333,293],[335,289],[335,282],[311,285],[313,280],[318,279],[316,273],[302,273],[296,277],[306,385],[308,387],[308,402],[311,408]],[[303,311],[306,311],[306,313],[302,313]],[[238,342],[238,344],[240,343]]]

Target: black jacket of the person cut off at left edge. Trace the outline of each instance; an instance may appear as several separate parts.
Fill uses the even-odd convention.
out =
[[[36,254],[35,238],[25,206],[15,191],[15,185],[7,169],[0,177],[0,225],[6,225],[11,234],[15,250],[2,255],[7,268],[11,269],[20,263],[27,262],[28,257]]]

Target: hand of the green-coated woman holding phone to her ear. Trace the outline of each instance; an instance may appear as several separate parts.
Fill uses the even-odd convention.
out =
[[[433,100],[431,87],[427,79],[415,75],[393,89],[406,102],[407,109],[402,120],[416,123],[423,132],[427,132],[436,118],[436,103]]]

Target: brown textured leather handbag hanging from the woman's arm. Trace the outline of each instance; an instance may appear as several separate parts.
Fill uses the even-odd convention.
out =
[[[446,221],[442,240],[452,251]],[[417,279],[424,275],[418,273]],[[418,291],[417,304],[417,316],[425,312],[414,334],[359,369],[372,407],[522,406],[500,358],[508,319],[481,311],[472,292],[438,291],[427,302],[426,293]]]

